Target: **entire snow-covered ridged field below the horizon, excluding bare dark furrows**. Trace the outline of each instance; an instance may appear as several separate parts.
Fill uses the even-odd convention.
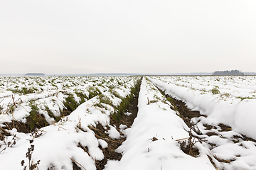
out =
[[[256,169],[256,77],[143,77],[137,118],[131,128],[117,127],[110,120],[124,98],[132,95],[138,80],[0,77],[1,130],[4,123],[14,120],[26,123],[33,106],[49,124],[28,133],[15,127],[5,129],[11,135],[0,138],[0,169],[28,169],[31,165],[36,169],[73,169],[72,162],[80,169],[97,169],[95,162],[104,159],[102,148],[108,147],[108,138],[99,139],[90,128],[97,124],[112,140],[127,137],[116,149],[122,159],[108,160],[106,170]],[[174,103],[157,88],[206,115],[191,120],[200,135],[184,123],[173,109]],[[68,97],[80,106],[63,116]],[[222,124],[230,129],[222,130]],[[196,157],[182,151],[181,142],[188,144],[189,140],[198,149]],[[28,152],[31,145],[33,152]]]

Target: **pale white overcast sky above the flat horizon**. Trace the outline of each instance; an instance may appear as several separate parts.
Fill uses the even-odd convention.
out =
[[[256,72],[255,9],[255,0],[1,0],[0,74]]]

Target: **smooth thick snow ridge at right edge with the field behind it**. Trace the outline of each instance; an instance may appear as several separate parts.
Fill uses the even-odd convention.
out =
[[[255,76],[151,77],[151,81],[188,107],[256,140]]]

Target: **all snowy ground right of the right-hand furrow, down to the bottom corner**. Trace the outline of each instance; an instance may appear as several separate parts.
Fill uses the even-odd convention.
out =
[[[207,117],[193,118],[207,140],[205,148],[223,169],[256,169],[256,77],[151,77],[166,94],[186,102]],[[230,126],[223,132],[220,123]],[[206,130],[206,126],[215,128]],[[208,132],[216,135],[208,136]],[[246,135],[252,139],[247,141]],[[243,140],[242,140],[243,139]],[[207,143],[211,145],[207,145]],[[204,149],[203,149],[204,150]]]

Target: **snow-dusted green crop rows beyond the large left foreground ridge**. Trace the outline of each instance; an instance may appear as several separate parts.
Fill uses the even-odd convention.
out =
[[[61,116],[68,99],[79,104],[131,80],[132,77],[0,77],[0,123],[10,122],[13,117],[25,122],[34,107],[52,124],[54,117]]]

